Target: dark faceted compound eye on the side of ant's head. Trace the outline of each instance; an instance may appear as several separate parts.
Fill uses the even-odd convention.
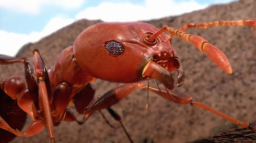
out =
[[[106,49],[112,55],[122,55],[124,53],[124,47],[117,41],[109,41],[106,44]]]

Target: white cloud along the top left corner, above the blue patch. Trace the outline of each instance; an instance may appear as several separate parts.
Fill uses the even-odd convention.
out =
[[[83,0],[1,0],[0,7],[14,12],[38,14],[44,6],[57,6],[65,9],[76,8],[82,5]]]

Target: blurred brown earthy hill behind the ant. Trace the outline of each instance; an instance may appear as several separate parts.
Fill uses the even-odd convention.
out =
[[[146,21],[161,28],[169,25],[180,28],[188,22],[208,22],[215,20],[238,20],[256,17],[256,1],[239,1],[227,5],[214,5],[204,10],[194,11],[178,17]],[[171,10],[171,8],[170,8]],[[32,50],[37,48],[46,67],[52,68],[61,51],[73,45],[76,36],[90,25],[100,21],[80,20],[51,35],[38,43],[23,48],[17,57],[27,57],[32,62]],[[97,31],[96,31],[97,32]],[[193,45],[175,37],[172,46],[177,50],[183,63],[186,80],[181,93],[193,96],[194,100],[207,103],[242,121],[255,122],[256,107],[256,37],[254,29],[248,27],[217,27],[210,29],[192,29],[185,32],[200,35],[211,44],[219,47],[229,58],[233,74],[229,75],[218,67]],[[22,64],[1,66],[0,79],[11,75],[23,76]],[[154,82],[152,83],[152,85]],[[95,84],[96,96],[102,95],[118,84],[109,84],[98,80]],[[123,118],[127,131],[135,142],[146,133],[155,142],[192,142],[206,138],[210,129],[222,124],[218,116],[189,105],[176,105],[155,94],[149,96],[149,108],[146,109],[145,90],[136,90],[123,101],[113,106]],[[128,142],[118,122],[106,113],[110,128],[99,113],[95,113],[82,126],[76,123],[62,122],[55,128],[57,142],[103,142],[111,137],[115,142]],[[27,124],[31,123],[28,119]],[[26,128],[26,127],[25,127]],[[24,129],[25,130],[25,129]],[[29,138],[17,137],[13,142],[49,142],[48,131]]]

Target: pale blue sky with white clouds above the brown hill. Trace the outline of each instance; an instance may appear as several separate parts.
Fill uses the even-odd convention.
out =
[[[15,56],[28,42],[79,19],[110,21],[152,20],[204,9],[235,0],[1,0],[0,54]]]

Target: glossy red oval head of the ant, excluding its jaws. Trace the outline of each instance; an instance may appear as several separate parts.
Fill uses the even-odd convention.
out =
[[[165,71],[169,62],[178,65],[172,63],[176,51],[164,30],[144,22],[98,23],[76,38],[75,59],[83,71],[98,79],[121,83],[152,79],[143,75],[149,61]]]

